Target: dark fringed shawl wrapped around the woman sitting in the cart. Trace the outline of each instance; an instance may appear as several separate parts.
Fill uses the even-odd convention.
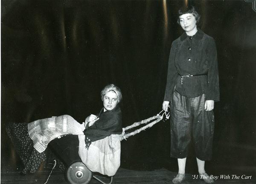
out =
[[[117,105],[111,111],[99,112],[99,120],[84,130],[84,135],[91,141],[108,137],[111,134],[122,134],[122,112]]]

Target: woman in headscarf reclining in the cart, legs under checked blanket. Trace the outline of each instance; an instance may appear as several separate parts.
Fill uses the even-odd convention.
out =
[[[121,90],[110,84],[102,89],[101,97],[102,110],[97,116],[88,116],[83,124],[79,124],[70,115],[41,119],[29,124],[9,124],[6,130],[24,164],[22,173],[26,174],[29,170],[35,173],[47,158],[49,142],[61,135],[79,135],[79,155],[85,159],[91,150],[95,152],[96,145],[102,147],[100,144],[111,141],[114,137],[112,135],[121,134],[122,115],[118,106],[122,100]],[[93,149],[89,148],[90,144]]]

